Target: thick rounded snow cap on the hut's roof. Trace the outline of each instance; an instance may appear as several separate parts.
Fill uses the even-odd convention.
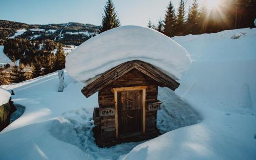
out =
[[[175,80],[191,64],[187,51],[164,34],[145,27],[122,26],[79,45],[66,57],[66,70],[74,79],[86,82],[131,60],[151,63]]]

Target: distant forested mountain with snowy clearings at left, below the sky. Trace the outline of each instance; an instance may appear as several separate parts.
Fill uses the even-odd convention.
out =
[[[15,36],[18,30],[22,34]],[[26,31],[25,31],[26,30]],[[0,39],[23,38],[29,40],[54,40],[63,44],[79,45],[98,34],[99,26],[68,22],[66,24],[29,25],[22,22],[0,20]]]

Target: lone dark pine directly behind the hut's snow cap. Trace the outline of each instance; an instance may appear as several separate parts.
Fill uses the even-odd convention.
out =
[[[112,2],[112,0],[108,0],[104,8],[104,15],[102,16],[102,24],[99,29],[100,33],[119,26],[120,22],[117,18],[114,3]]]

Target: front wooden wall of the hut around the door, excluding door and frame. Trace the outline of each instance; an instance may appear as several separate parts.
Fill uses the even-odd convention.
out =
[[[147,86],[146,134],[151,131],[156,131],[157,111],[147,110],[147,104],[157,101],[158,83],[136,69],[126,73],[98,92],[99,108],[114,108],[114,93],[112,88],[129,86]],[[112,139],[115,139],[115,116],[101,117],[100,120],[99,134],[101,141],[111,141]]]

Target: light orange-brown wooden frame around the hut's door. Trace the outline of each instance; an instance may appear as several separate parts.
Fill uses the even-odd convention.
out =
[[[133,87],[119,87],[112,88],[115,97],[115,127],[116,127],[116,139],[118,139],[118,104],[117,104],[117,92],[127,90],[142,90],[142,134],[146,131],[146,89],[147,86],[133,86]]]

